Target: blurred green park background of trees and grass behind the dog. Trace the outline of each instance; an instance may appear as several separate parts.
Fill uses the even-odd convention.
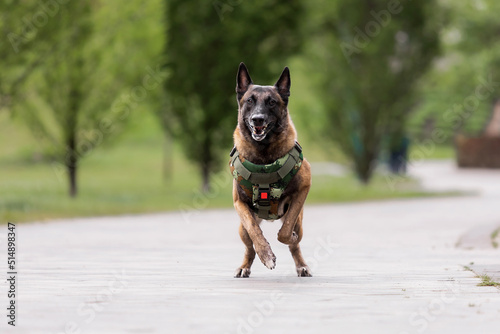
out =
[[[0,220],[231,207],[235,78],[274,84],[308,203],[435,196],[421,161],[500,168],[500,3],[0,3]]]

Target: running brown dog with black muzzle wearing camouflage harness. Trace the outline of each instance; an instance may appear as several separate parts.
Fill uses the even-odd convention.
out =
[[[234,277],[249,277],[255,254],[268,269],[276,256],[265,239],[263,219],[281,219],[278,240],[288,245],[297,275],[311,277],[299,242],[304,202],[311,188],[311,166],[303,158],[288,112],[290,70],[285,67],[274,86],[255,85],[241,63],[236,78],[238,124],[234,130],[230,170],[233,202],[240,218],[239,234],[246,250]]]

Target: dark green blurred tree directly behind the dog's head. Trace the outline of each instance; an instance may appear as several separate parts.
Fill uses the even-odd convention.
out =
[[[236,126],[238,64],[244,61],[257,82],[276,80],[299,50],[302,7],[298,0],[168,0],[166,7],[169,76],[159,117],[199,167],[206,191]]]

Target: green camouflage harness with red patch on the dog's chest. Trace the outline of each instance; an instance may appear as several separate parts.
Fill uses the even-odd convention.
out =
[[[295,142],[290,152],[267,165],[257,165],[240,157],[236,147],[233,147],[230,156],[231,174],[247,196],[252,198],[253,211],[262,219],[280,219],[279,200],[304,160],[299,143]]]

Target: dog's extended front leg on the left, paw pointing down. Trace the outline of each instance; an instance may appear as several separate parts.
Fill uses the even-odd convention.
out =
[[[239,199],[234,202],[234,207],[240,216],[241,224],[253,242],[255,252],[260,260],[268,269],[274,269],[276,266],[276,256],[260,229],[260,221],[256,219],[255,215],[248,208],[248,205]]]

